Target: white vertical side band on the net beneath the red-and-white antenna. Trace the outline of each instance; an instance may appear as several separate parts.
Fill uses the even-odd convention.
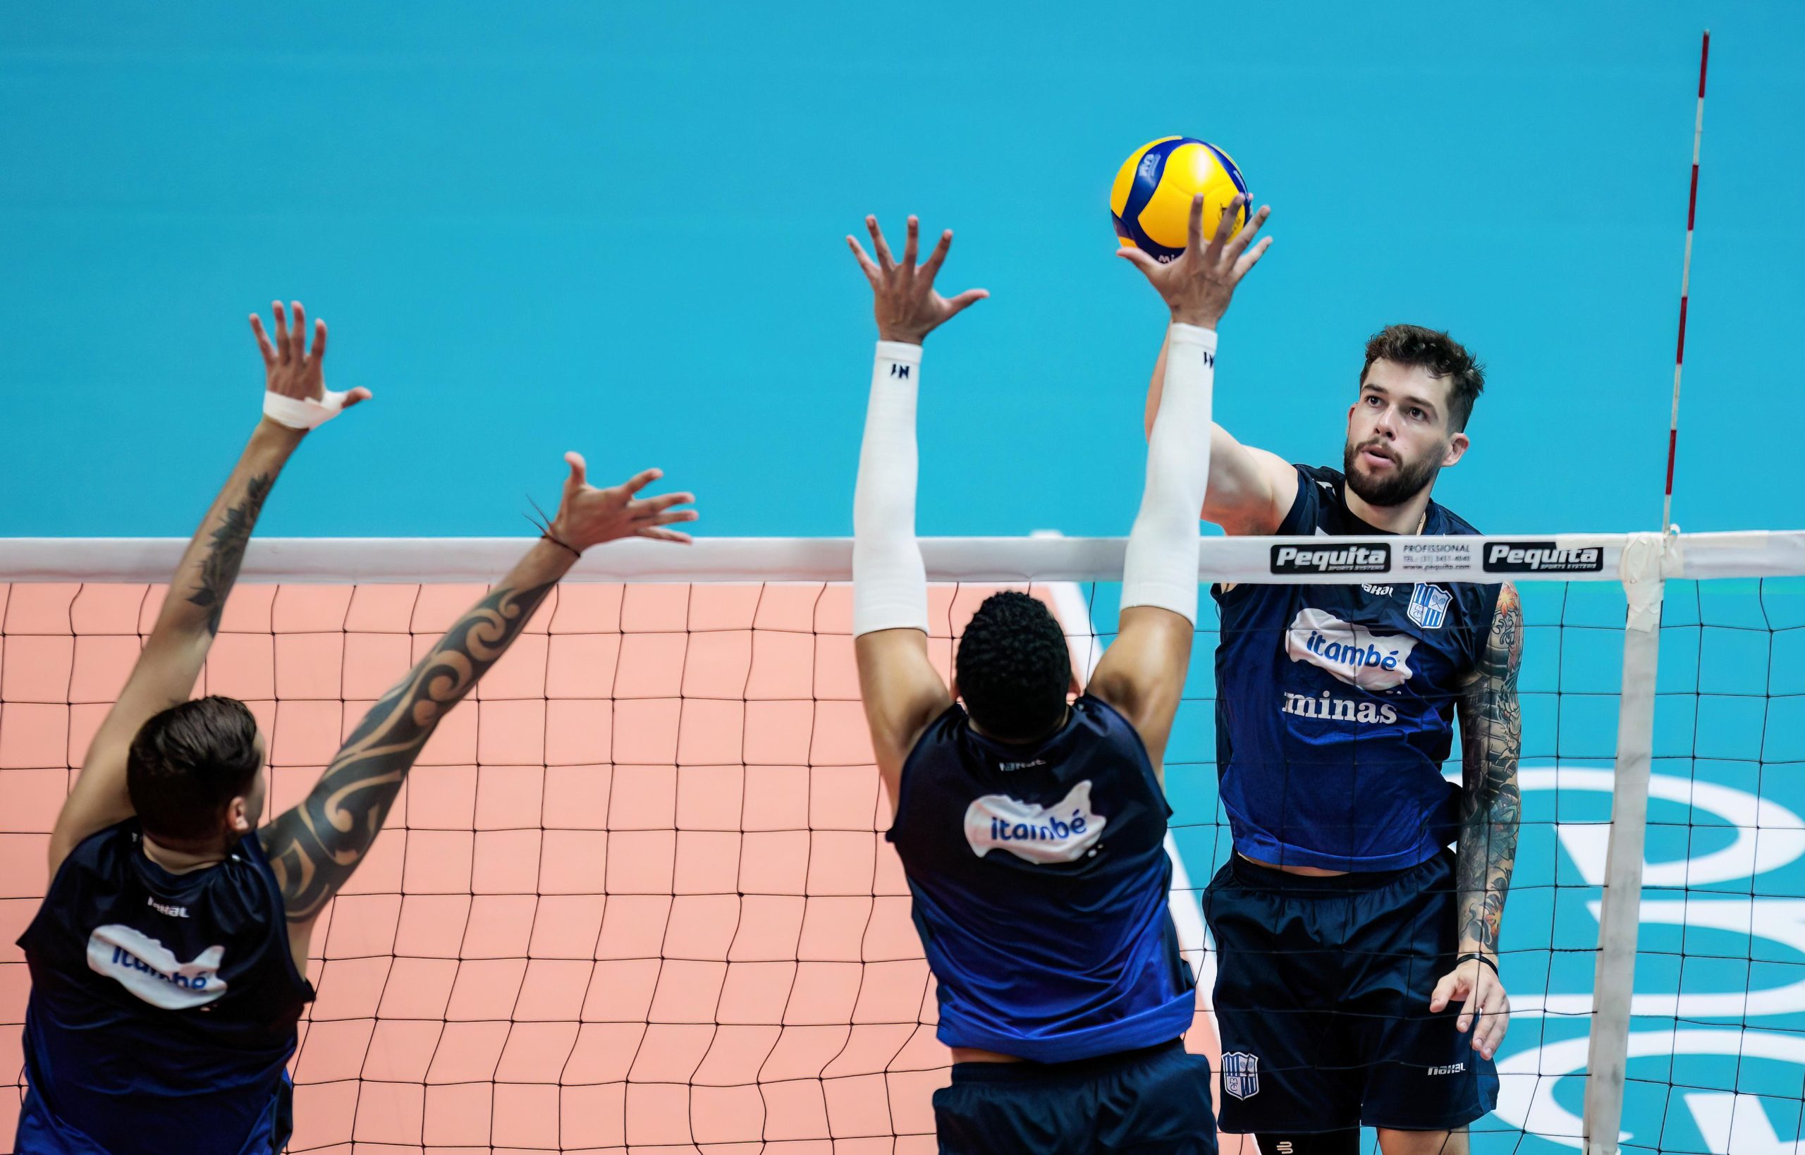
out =
[[[1666,590],[1668,534],[1632,534],[1619,563],[1628,597],[1623,632],[1623,693],[1617,702],[1617,762],[1610,799],[1605,895],[1592,978],[1592,1036],[1587,1047],[1585,1155],[1617,1155],[1623,1092],[1630,1061],[1630,1003],[1643,908],[1643,845],[1648,776],[1655,738],[1655,661],[1661,653],[1661,599]]]

